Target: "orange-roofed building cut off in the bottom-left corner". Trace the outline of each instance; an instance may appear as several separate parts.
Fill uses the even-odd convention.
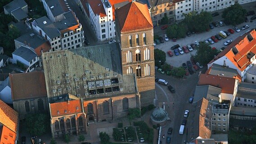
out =
[[[0,100],[0,144],[17,144],[19,138],[18,112]]]

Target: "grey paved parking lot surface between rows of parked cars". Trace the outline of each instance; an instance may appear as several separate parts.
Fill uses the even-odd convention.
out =
[[[251,17],[252,16],[248,16],[249,19]],[[245,30],[241,30],[241,27],[246,24],[249,25],[250,27]],[[244,32],[246,32],[252,28],[256,28],[256,20],[254,20],[253,22],[242,23],[242,24],[238,25],[237,27],[241,30],[240,32],[235,31],[235,33],[230,34],[230,36],[228,36],[227,38],[225,38],[225,39],[222,38],[217,43],[214,43],[210,46],[215,47],[218,50],[221,49],[222,47],[226,47],[224,45],[224,42],[226,42],[227,40],[235,40],[238,36],[242,35]],[[214,27],[213,29],[210,29],[210,31],[205,31],[203,33],[198,33],[198,34],[192,34],[192,36],[186,36],[185,38],[177,39],[176,42],[173,42],[173,40],[169,39],[169,41],[165,41],[164,43],[161,43],[160,45],[156,45],[155,49],[161,49],[165,52],[166,63],[169,63],[170,65],[172,65],[174,67],[180,67],[180,66],[182,66],[182,63],[186,63],[186,61],[190,60],[190,57],[192,55],[196,55],[197,51],[194,49],[193,51],[191,51],[189,53],[179,54],[178,56],[175,56],[174,50],[170,49],[173,45],[179,44],[182,47],[185,45],[190,45],[192,43],[195,43],[195,41],[205,41],[208,38],[210,38],[211,36],[218,35],[219,31],[227,31],[229,28],[233,29],[233,26],[232,25],[226,26],[224,24],[224,26]],[[160,34],[159,36],[164,36],[165,32],[166,32],[166,30],[163,30],[162,34]],[[171,50],[172,53],[174,54],[174,56],[169,57],[169,55],[167,54],[168,50]]]

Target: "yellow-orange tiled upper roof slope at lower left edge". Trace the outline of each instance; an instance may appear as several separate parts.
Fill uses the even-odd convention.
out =
[[[17,133],[18,112],[9,107],[0,99],[0,123]]]

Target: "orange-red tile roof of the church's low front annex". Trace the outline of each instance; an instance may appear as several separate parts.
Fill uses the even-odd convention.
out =
[[[50,103],[51,116],[63,116],[82,112],[81,99]]]

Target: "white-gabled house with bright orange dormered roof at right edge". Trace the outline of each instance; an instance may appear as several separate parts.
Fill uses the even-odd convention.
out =
[[[256,63],[256,30],[252,29],[234,40],[226,49],[219,53],[210,63],[234,68],[246,80],[247,70]]]

